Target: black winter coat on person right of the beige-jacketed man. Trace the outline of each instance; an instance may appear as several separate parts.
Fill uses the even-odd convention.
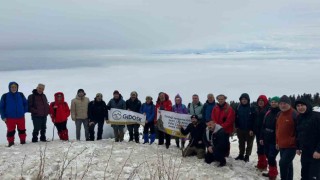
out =
[[[108,119],[108,107],[104,101],[91,101],[88,105],[88,118],[90,122],[101,122]]]

